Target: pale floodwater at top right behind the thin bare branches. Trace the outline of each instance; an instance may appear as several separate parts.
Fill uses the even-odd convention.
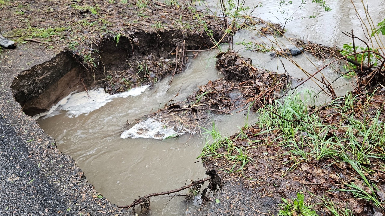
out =
[[[245,6],[253,8],[258,2],[261,2],[262,7],[256,8],[252,15],[274,23],[282,23],[282,25],[285,25],[285,20],[288,20],[285,25],[287,37],[300,37],[304,40],[324,45],[342,46],[343,43],[351,43],[352,41],[341,32],[351,32],[353,29],[355,35],[365,39],[361,23],[357,18],[358,15],[356,15],[351,0],[326,0],[326,3],[332,9],[329,12],[325,12],[323,8],[310,3],[310,1],[306,3],[305,7],[296,10],[300,5],[300,0],[294,0],[293,4],[282,6],[281,11],[284,11],[283,14],[279,12],[278,0],[246,0]],[[385,1],[364,0],[363,2],[365,2],[375,25],[384,19]],[[212,8],[215,8],[217,3],[217,0],[208,0],[208,4]],[[365,24],[369,26],[361,0],[353,0],[353,3],[355,3],[358,14],[363,18]],[[295,13],[290,19],[286,18],[290,17],[290,14],[293,12]],[[302,19],[311,15],[316,15],[316,17]]]

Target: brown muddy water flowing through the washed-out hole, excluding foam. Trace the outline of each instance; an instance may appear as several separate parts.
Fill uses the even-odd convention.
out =
[[[138,196],[179,188],[191,179],[204,178],[204,168],[196,160],[202,148],[201,137],[184,135],[159,141],[122,139],[120,135],[127,129],[127,120],[133,122],[158,110],[179,89],[179,96],[174,99],[177,101],[184,100],[197,85],[216,80],[219,75],[213,67],[214,55],[215,52],[205,52],[191,60],[186,71],[176,75],[169,88],[170,78],[165,78],[141,95],[114,98],[99,109],[77,117],[70,109],[59,111],[60,114],[56,111],[54,116],[40,119],[39,124],[55,137],[60,151],[77,161],[97,191],[114,204],[129,204]],[[84,109],[92,110],[90,106],[93,105],[88,103]],[[232,116],[232,126],[243,125],[241,116]],[[221,119],[217,121],[221,125]],[[237,129],[231,128],[226,129],[229,135]],[[152,214],[180,215],[186,208],[194,207],[183,204],[181,196],[174,197],[164,207],[170,199],[168,196],[152,199],[159,200],[151,204]]]

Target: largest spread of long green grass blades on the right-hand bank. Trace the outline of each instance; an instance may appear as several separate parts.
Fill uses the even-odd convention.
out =
[[[285,163],[292,163],[291,169],[306,161],[320,161],[332,158],[336,162],[343,161],[361,177],[365,186],[371,193],[360,189],[354,183],[345,183],[350,189],[338,189],[351,192],[357,198],[367,199],[375,206],[383,206],[375,195],[373,183],[366,177],[375,171],[370,169],[372,161],[385,158],[385,127],[379,120],[381,110],[367,113],[365,118],[357,118],[357,113],[365,112],[370,108],[372,95],[346,94],[344,98],[336,101],[344,103],[330,103],[330,108],[335,109],[344,125],[328,125],[318,116],[311,113],[308,102],[300,95],[288,96],[284,100],[277,100],[273,105],[266,105],[258,111],[258,128],[262,129],[256,135],[273,133],[274,140],[259,140],[258,142],[285,148],[291,159]],[[345,133],[335,133],[345,131]],[[250,147],[254,148],[254,147]],[[374,188],[374,189],[373,189]]]

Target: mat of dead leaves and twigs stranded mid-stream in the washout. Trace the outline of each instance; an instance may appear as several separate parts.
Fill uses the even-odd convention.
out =
[[[201,133],[201,127],[211,123],[213,113],[232,115],[232,111],[242,110],[251,103],[255,109],[269,104],[290,83],[288,76],[255,68],[251,59],[233,51],[219,53],[216,68],[224,78],[198,86],[199,90],[187,100],[171,100],[144,118],[161,122],[165,129],[177,128],[178,132],[166,138],[179,136],[181,131]]]

